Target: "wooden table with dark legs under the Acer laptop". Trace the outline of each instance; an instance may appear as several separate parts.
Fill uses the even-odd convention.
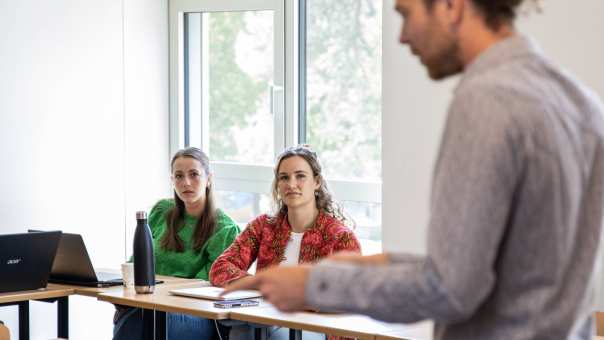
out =
[[[29,339],[29,301],[57,301],[57,335],[59,338],[68,338],[68,297],[73,293],[73,287],[49,283],[45,289],[0,293],[0,307],[11,305],[19,306],[19,339],[27,340]]]

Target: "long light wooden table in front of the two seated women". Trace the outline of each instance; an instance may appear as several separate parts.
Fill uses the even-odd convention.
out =
[[[136,294],[133,288],[105,291],[97,295],[100,301],[143,310],[144,339],[166,339],[166,313],[182,313],[213,320],[238,320],[269,326],[290,328],[290,338],[301,339],[302,331],[325,333],[359,339],[413,339],[431,337],[432,324],[389,324],[363,315],[298,312],[283,313],[261,300],[258,307],[222,309],[214,301],[175,296],[176,288],[203,286],[199,282],[172,281],[157,285],[153,294]],[[256,336],[261,333],[256,332]]]

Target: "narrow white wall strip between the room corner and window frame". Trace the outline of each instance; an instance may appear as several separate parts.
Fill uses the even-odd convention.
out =
[[[135,213],[171,197],[168,0],[124,0],[126,257]]]

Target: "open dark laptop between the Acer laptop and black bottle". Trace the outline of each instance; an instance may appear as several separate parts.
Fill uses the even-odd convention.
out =
[[[38,230],[29,230],[36,233]],[[78,286],[110,287],[123,284],[121,273],[97,272],[80,234],[63,233],[50,271],[50,282]]]

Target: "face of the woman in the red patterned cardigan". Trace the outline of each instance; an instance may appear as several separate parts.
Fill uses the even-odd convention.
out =
[[[293,156],[279,164],[277,191],[288,210],[308,205],[315,207],[315,190],[319,187],[320,183],[304,158]]]

